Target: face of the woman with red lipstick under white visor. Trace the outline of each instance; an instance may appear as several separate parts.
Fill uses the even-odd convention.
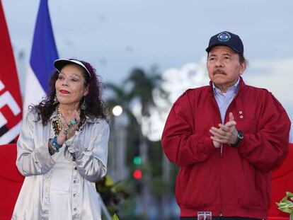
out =
[[[81,66],[68,64],[60,71],[55,83],[57,100],[61,105],[78,106],[83,96],[88,94],[88,86]]]

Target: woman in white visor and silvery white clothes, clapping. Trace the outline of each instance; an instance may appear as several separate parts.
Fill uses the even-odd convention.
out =
[[[25,175],[12,219],[100,219],[95,183],[106,173],[109,126],[95,69],[57,59],[50,93],[30,107],[17,143]]]

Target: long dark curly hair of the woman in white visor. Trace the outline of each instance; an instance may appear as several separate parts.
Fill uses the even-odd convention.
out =
[[[102,100],[102,83],[99,81],[98,76],[96,75],[96,69],[93,69],[93,66],[88,62],[80,61],[86,66],[86,69],[91,73],[91,77],[86,73],[84,68],[84,86],[88,86],[88,95],[81,99],[79,106],[86,102],[86,110],[81,110],[81,117],[85,115],[107,119],[107,114],[105,110],[105,105]],[[73,64],[76,65],[76,64]],[[79,66],[79,65],[76,65]],[[49,92],[47,97],[42,100],[38,105],[30,105],[30,110],[35,110],[38,112],[38,120],[42,120],[43,125],[47,125],[48,120],[50,119],[52,113],[56,109],[59,103],[54,102],[56,96],[55,83],[58,79],[59,71],[54,71],[49,79]]]

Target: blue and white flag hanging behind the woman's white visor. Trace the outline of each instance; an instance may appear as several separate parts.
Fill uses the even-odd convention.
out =
[[[25,97],[23,112],[28,105],[38,104],[48,91],[48,81],[52,71],[53,62],[58,59],[58,52],[54,40],[50,13],[47,0],[40,0],[33,47],[30,54],[30,66],[25,82]]]

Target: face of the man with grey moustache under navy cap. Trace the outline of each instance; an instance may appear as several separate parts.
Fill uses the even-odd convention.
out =
[[[209,79],[222,92],[233,86],[246,69],[246,62],[239,62],[239,54],[230,47],[217,46],[207,56]]]

